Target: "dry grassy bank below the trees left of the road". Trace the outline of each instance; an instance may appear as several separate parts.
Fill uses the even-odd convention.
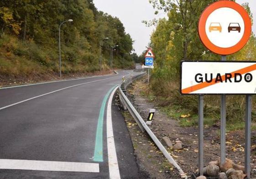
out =
[[[40,45],[34,41],[21,41],[15,36],[0,38],[0,75],[4,77],[33,77],[58,73],[58,48],[56,44]],[[99,71],[98,52],[81,49],[78,45],[62,46],[62,72],[94,73]],[[131,61],[132,63],[132,61]],[[108,70],[108,60],[103,56],[103,69]],[[133,65],[133,64],[129,64]]]

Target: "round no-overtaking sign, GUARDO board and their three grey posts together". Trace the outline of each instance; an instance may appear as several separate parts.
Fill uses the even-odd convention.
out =
[[[225,18],[223,17],[225,14]],[[246,174],[250,179],[251,96],[256,94],[256,61],[228,63],[226,55],[240,51],[251,36],[251,19],[245,8],[230,0],[219,0],[202,13],[199,37],[210,51],[222,55],[221,62],[181,63],[181,93],[199,95],[199,173],[203,175],[203,94],[221,94],[220,163],[226,157],[226,94],[246,94]],[[204,62],[204,63],[202,63]],[[201,64],[200,64],[201,63]],[[186,65],[185,65],[186,64]],[[240,66],[245,65],[245,66]],[[185,80],[183,80],[185,79]]]

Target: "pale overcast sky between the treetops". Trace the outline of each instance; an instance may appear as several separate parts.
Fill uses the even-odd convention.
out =
[[[254,25],[252,30],[256,34],[256,0],[236,0],[237,3],[249,3],[253,15]],[[126,33],[134,40],[133,47],[138,55],[146,50],[150,36],[155,27],[146,27],[142,20],[163,18],[167,14],[160,12],[155,15],[155,10],[149,0],[94,0],[98,10],[118,17],[125,26]]]

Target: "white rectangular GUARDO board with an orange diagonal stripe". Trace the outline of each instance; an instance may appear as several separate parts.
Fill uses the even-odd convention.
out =
[[[256,94],[256,61],[181,61],[182,94]]]

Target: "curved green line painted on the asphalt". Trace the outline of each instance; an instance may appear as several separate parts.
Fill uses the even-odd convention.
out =
[[[110,96],[110,93],[116,86],[112,87],[110,91],[107,92],[106,96],[103,99],[99,110],[99,118],[97,125],[97,132],[95,138],[95,148],[94,148],[94,161],[95,162],[103,162],[103,122],[104,122],[104,112],[107,103],[107,99]]]

